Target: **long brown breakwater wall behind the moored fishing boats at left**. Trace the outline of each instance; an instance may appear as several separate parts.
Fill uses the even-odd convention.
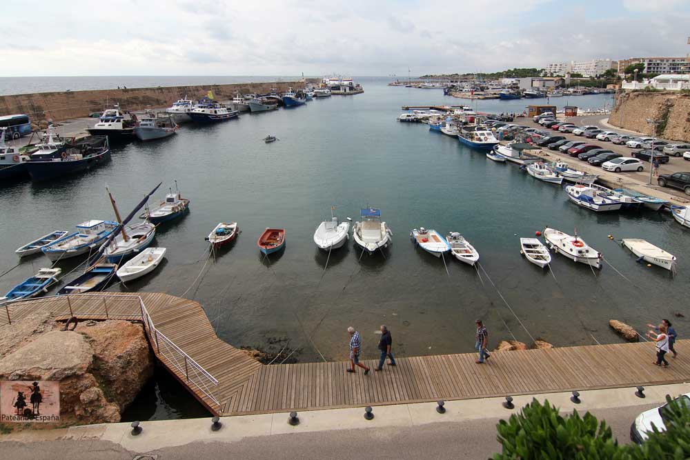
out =
[[[215,99],[226,101],[235,94],[257,92],[266,94],[275,88],[284,92],[288,87],[303,89],[305,81],[274,81],[268,83],[233,83],[227,85],[159,86],[157,88],[123,88],[115,90],[35,92],[0,96],[0,115],[28,114],[33,122],[63,121],[88,117],[118,103],[123,110],[170,107],[182,97],[197,99],[213,91]]]

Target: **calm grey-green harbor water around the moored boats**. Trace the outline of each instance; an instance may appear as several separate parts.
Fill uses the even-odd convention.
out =
[[[159,181],[164,186],[157,198],[177,180],[191,212],[159,229],[155,246],[168,248],[166,262],[155,274],[110,289],[195,299],[218,336],[235,346],[296,350],[293,357],[301,362],[343,360],[346,328],[354,326],[364,358],[373,358],[375,331],[385,323],[399,356],[471,352],[477,318],[489,328],[490,346],[513,338],[528,345],[542,338],[555,346],[620,341],[609,319],[644,331],[647,322],[667,317],[678,322],[682,336],[686,319],[676,314],[684,314],[690,290],[690,234],[669,214],[578,208],[558,186],[489,161],[424,124],[395,120],[401,106],[522,112],[545,99],[467,101],[441,90],[386,86],[388,79],[357,81],[364,94],[242,114],[215,126],[187,124],[170,139],[115,147],[108,164],[87,174],[0,189],[0,271],[14,266],[14,250],[34,237],[72,230],[87,219],[112,219],[106,184],[126,214]],[[610,106],[611,95],[550,103],[599,108]],[[264,143],[267,134],[279,141]],[[380,208],[393,245],[362,257],[351,243],[330,256],[317,250],[313,233],[330,219],[331,206],[354,221],[359,208]],[[237,221],[242,234],[213,258],[204,237],[220,221]],[[415,248],[408,235],[420,226],[460,232],[480,252],[480,267]],[[545,226],[571,234],[576,228],[604,254],[603,270],[557,254],[551,271],[528,263],[519,238]],[[257,239],[266,227],[285,228],[287,244],[262,259]],[[609,234],[647,239],[675,254],[677,276],[636,263]],[[75,264],[58,265],[68,272]],[[6,292],[44,266],[50,262],[42,255],[22,261],[0,278],[0,288]],[[149,401],[150,417],[196,410],[166,410],[185,403],[174,397],[166,402],[168,390],[150,392],[151,401],[161,400]],[[154,410],[156,404],[162,409]]]

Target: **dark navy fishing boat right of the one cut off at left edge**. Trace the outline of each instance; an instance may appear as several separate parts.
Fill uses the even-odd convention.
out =
[[[37,150],[26,161],[32,181],[47,181],[101,166],[110,159],[108,136],[88,136],[63,150]]]

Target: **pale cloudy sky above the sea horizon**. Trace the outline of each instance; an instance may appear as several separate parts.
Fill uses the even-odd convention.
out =
[[[2,0],[0,76],[406,75],[684,56],[690,0]]]

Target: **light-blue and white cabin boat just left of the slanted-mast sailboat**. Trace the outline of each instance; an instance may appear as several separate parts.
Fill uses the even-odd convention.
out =
[[[54,262],[97,252],[101,243],[115,231],[118,225],[117,222],[98,220],[79,223],[76,232],[43,246],[41,251]]]

